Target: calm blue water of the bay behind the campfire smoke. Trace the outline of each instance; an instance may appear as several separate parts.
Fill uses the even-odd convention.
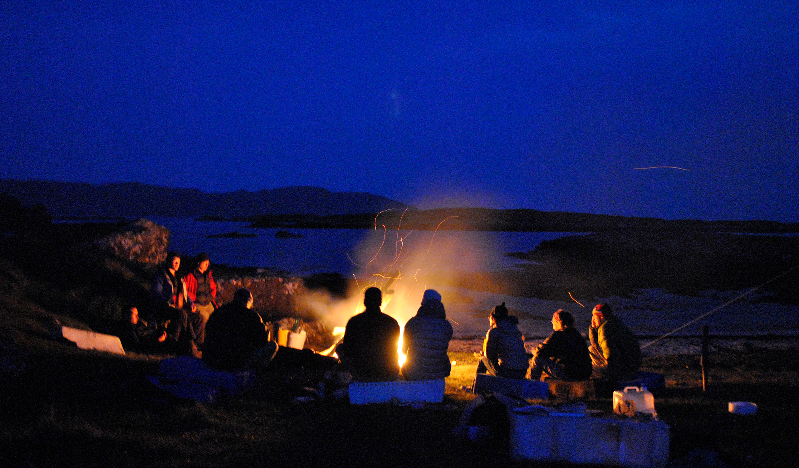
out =
[[[208,252],[214,263],[237,267],[277,268],[296,275],[316,272],[370,272],[383,268],[444,268],[461,272],[510,268],[519,264],[507,252],[527,252],[543,240],[572,232],[385,233],[371,229],[290,229],[299,239],[276,239],[276,228],[249,228],[245,222],[197,222],[191,218],[153,217],[169,228],[170,248],[193,256]],[[256,237],[209,238],[240,232]],[[374,259],[374,260],[372,260]],[[372,263],[370,264],[370,260]],[[359,266],[360,265],[360,266]]]

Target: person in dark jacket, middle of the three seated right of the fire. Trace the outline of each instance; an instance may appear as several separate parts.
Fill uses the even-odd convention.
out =
[[[530,379],[551,377],[558,380],[588,380],[591,376],[591,358],[586,339],[582,338],[574,317],[559,309],[552,314],[551,335],[533,351]]]

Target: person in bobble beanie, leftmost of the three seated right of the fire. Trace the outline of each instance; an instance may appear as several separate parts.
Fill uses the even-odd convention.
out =
[[[491,309],[488,323],[491,328],[483,340],[483,355],[477,365],[477,373],[524,379],[527,375],[527,351],[524,349],[519,319],[508,315],[505,303]]]

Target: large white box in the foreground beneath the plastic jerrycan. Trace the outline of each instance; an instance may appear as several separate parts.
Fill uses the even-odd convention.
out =
[[[541,462],[654,467],[669,462],[669,426],[588,416],[508,411],[511,458]]]

